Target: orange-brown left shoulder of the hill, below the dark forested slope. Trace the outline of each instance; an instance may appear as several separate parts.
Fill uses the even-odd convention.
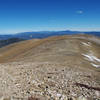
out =
[[[0,48],[0,62],[11,61],[22,53],[27,52],[36,41],[39,41],[39,39],[26,40]]]

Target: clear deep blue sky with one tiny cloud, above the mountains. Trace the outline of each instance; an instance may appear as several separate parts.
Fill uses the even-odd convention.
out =
[[[100,0],[0,0],[0,33],[100,31]]]

